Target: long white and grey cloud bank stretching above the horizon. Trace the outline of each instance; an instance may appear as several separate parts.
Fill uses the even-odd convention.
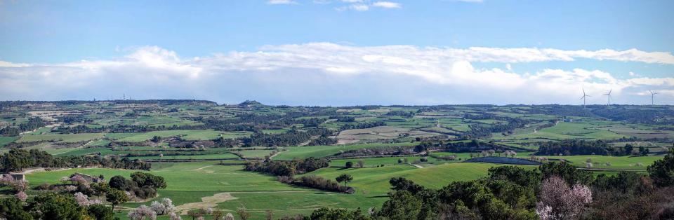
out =
[[[510,64],[615,60],[674,64],[666,52],[552,48],[420,48],[305,43],[262,46],[205,57],[179,57],[157,46],[113,60],[61,64],[0,61],[4,99],[197,98],[270,104],[578,104],[581,88],[604,103],[644,104],[646,90],[674,97],[674,78],[619,79],[596,69],[517,73]],[[504,69],[475,68],[503,63]],[[665,103],[667,104],[667,103]],[[672,103],[668,103],[672,104]]]

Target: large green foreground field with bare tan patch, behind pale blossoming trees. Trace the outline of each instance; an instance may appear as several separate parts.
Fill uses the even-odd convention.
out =
[[[300,188],[281,184],[276,177],[242,171],[240,165],[217,165],[217,162],[172,163],[160,165],[159,169],[152,170],[152,174],[166,179],[168,187],[159,190],[161,198],[171,198],[175,205],[184,205],[188,202],[201,202],[201,197],[212,196],[216,193],[230,193],[232,200],[217,204],[225,212],[236,212],[239,207],[245,207],[253,214],[252,219],[263,219],[266,209],[270,207],[277,217],[291,216],[302,213],[308,214],[312,209],[319,207],[378,207],[386,198],[368,198],[366,195],[347,195],[341,193],[326,193],[310,188]],[[55,172],[34,172],[27,175],[31,186],[42,183],[55,184],[60,177],[69,176],[74,172],[98,175],[103,174],[107,179],[114,175],[128,178],[132,170],[112,169],[72,169]],[[126,203],[122,207],[138,207],[150,205],[150,202]],[[126,219],[126,214],[117,214]],[[183,219],[190,219],[183,216]]]

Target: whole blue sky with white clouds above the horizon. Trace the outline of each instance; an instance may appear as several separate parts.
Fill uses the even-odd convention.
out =
[[[674,104],[674,1],[0,0],[0,100]]]

